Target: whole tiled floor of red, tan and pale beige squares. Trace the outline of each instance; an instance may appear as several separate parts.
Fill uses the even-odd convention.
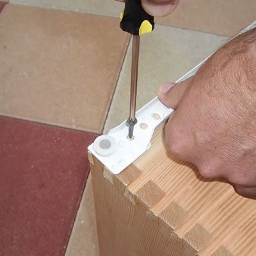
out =
[[[0,1],[0,255],[98,256],[86,147],[127,118],[131,42],[118,28],[122,3],[6,2]],[[141,38],[138,108],[255,13],[255,0],[182,0],[173,15],[157,19],[154,33]]]

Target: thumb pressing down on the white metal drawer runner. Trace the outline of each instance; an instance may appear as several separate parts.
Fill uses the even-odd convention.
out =
[[[164,83],[159,86],[157,95],[159,100],[168,108],[177,109],[180,99],[188,90],[193,77],[189,77],[181,83]]]

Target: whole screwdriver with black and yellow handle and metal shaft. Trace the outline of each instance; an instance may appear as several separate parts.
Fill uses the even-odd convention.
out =
[[[120,14],[120,28],[132,35],[132,67],[131,67],[131,93],[130,114],[127,120],[130,139],[133,138],[136,119],[136,97],[138,84],[138,63],[140,51],[140,36],[150,33],[154,29],[154,17],[143,9],[141,0],[125,0],[124,12]]]

